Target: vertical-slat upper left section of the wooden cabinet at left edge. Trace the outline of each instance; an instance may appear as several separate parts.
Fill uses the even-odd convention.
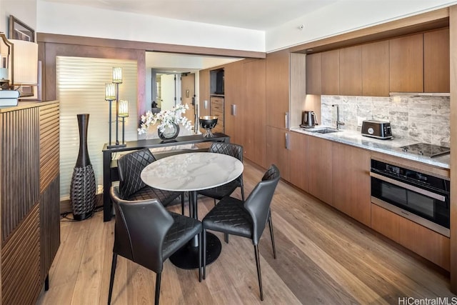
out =
[[[38,107],[1,114],[2,242],[39,199],[38,126]]]

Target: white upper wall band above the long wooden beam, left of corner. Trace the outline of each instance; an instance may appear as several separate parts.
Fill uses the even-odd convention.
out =
[[[4,1],[4,0],[3,0]],[[37,0],[43,33],[265,51],[263,31],[214,26],[155,16]]]

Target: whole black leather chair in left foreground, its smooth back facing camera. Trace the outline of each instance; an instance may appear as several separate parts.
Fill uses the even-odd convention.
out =
[[[156,273],[155,304],[159,304],[164,261],[196,235],[201,245],[201,222],[167,211],[157,199],[128,201],[121,199],[118,186],[111,186],[116,222],[114,224],[113,260],[109,281],[108,304],[116,274],[117,256]],[[201,246],[199,246],[199,281],[201,281]]]

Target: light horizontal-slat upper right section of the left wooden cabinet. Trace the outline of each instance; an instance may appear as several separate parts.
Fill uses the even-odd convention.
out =
[[[59,175],[59,104],[40,109],[40,193]]]

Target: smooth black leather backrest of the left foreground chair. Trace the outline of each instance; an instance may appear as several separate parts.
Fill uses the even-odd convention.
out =
[[[125,201],[117,187],[110,193],[116,210],[113,252],[161,273],[162,245],[173,217],[157,199]]]

